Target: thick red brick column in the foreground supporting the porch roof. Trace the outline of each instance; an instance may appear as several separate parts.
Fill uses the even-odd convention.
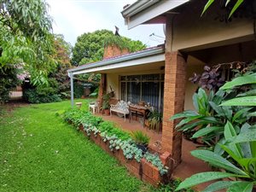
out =
[[[182,133],[175,131],[177,120],[169,120],[184,108],[186,83],[186,61],[178,51],[166,52],[165,93],[162,131],[162,152],[169,152],[173,167],[181,161]]]

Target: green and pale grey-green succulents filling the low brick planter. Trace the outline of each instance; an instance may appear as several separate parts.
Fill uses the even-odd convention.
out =
[[[157,154],[143,154],[142,149],[137,148],[137,145],[131,140],[130,134],[121,131],[113,123],[108,121],[102,122],[101,118],[95,117],[90,112],[84,112],[78,108],[67,110],[63,114],[63,118],[68,122],[72,122],[77,129],[79,125],[83,125],[84,131],[89,137],[92,133],[94,137],[100,134],[103,142],[109,143],[108,147],[111,151],[122,149],[127,160],[135,159],[137,162],[140,162],[142,158],[145,158],[159,169],[161,175],[166,174],[168,167],[163,166]]]

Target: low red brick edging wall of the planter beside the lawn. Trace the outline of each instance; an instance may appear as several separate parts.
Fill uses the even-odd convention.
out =
[[[88,137],[87,133],[84,131],[84,126],[79,125],[79,131],[84,133],[84,137]],[[120,148],[119,150],[111,151],[109,148],[108,141],[105,143],[103,142],[103,139],[100,134],[94,134],[90,135],[90,140],[92,140],[96,145],[100,146],[102,149],[104,149],[108,154],[115,157],[119,162],[124,165],[131,174],[136,176],[137,178],[143,180],[144,182],[151,183],[154,186],[158,186],[160,183],[163,183],[165,180],[165,177],[160,176],[160,172],[157,167],[153,166],[150,162],[145,160],[144,158],[141,160],[141,162],[137,162],[137,160],[127,160],[125,159],[125,155],[123,154],[123,150]],[[160,160],[166,165],[169,161],[170,154],[164,153],[160,155]]]

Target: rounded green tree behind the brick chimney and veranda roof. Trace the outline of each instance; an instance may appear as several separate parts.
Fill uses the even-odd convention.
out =
[[[146,46],[140,41],[132,41],[130,38],[115,36],[108,30],[87,32],[79,36],[73,48],[72,64],[79,66],[93,61],[101,61],[104,53],[104,46],[109,39],[120,39],[123,46],[131,52],[144,49]]]

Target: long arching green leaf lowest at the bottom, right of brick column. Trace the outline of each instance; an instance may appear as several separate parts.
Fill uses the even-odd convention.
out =
[[[182,183],[180,183],[175,189],[175,191],[180,189],[186,189],[192,186],[195,186],[200,183],[205,183],[208,181],[212,181],[219,178],[226,178],[226,177],[236,177],[236,174],[231,174],[229,172],[201,172],[195,175],[192,175],[189,178],[186,178]]]

